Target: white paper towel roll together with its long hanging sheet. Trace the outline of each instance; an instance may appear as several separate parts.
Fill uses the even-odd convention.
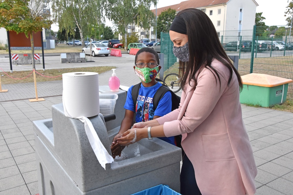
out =
[[[84,122],[88,141],[99,163],[106,169],[106,163],[112,163],[114,159],[105,149],[91,121],[87,118],[100,113],[98,73],[64,73],[62,77],[65,116]]]

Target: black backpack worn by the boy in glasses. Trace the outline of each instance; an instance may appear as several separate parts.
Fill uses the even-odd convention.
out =
[[[155,79],[156,79],[156,81],[161,82],[162,86],[156,91],[156,93],[154,95],[154,98],[153,98],[154,110],[156,110],[160,99],[168,91],[171,92],[171,96],[172,96],[172,108],[171,108],[171,111],[177,109],[179,107],[180,97],[178,95],[176,95],[173,91],[171,91],[169,89],[169,87],[166,85],[166,83],[163,82],[161,79],[158,79],[158,78],[155,78]],[[141,84],[142,83],[140,82],[140,83],[134,85],[133,88],[132,88],[131,95],[132,95],[132,100],[133,100],[134,104],[136,104],[136,102],[137,102],[138,92],[139,92],[139,89],[141,87]],[[176,135],[175,136],[176,146],[178,146],[178,147],[180,147],[182,149],[181,139],[182,139],[182,135]],[[182,152],[183,152],[183,149],[182,149]],[[182,155],[183,155],[183,153],[182,153]]]

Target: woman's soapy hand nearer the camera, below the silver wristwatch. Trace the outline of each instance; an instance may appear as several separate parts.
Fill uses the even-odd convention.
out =
[[[143,136],[144,131],[147,132],[147,129],[144,130],[144,128],[143,129],[135,128],[135,129],[127,130],[126,132],[122,134],[122,137],[117,138],[117,143],[122,146],[128,146],[130,144],[134,144],[135,142],[144,138]]]

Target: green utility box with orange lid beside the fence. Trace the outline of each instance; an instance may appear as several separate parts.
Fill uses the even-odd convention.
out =
[[[288,84],[292,79],[251,73],[241,76],[243,89],[240,103],[269,107],[286,101]]]

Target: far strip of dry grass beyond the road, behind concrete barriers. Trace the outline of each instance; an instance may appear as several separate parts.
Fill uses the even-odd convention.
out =
[[[82,46],[58,44],[54,49],[44,49],[44,54],[81,52]],[[110,48],[111,50],[112,48]],[[124,48],[120,49],[125,51]],[[31,50],[11,50],[11,54],[28,54]],[[8,54],[8,49],[0,50],[0,54]],[[35,49],[35,54],[42,54],[42,49]]]

